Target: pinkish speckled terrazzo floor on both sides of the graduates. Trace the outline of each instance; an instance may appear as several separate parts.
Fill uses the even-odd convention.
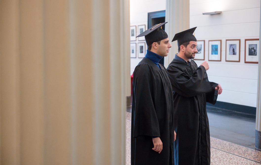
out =
[[[211,112],[208,112],[210,114]],[[210,118],[215,115],[209,115]],[[212,120],[214,122],[215,120]],[[223,121],[224,122],[224,121]],[[220,124],[220,123],[219,123]],[[212,126],[215,124],[212,124]],[[211,126],[211,125],[210,125]],[[131,164],[131,113],[126,112],[126,165]],[[252,135],[252,134],[251,134]],[[251,138],[250,138],[251,139]],[[261,152],[226,142],[214,137],[210,139],[211,165],[261,164]]]

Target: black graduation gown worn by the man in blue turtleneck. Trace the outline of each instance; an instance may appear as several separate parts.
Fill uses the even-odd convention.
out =
[[[143,58],[133,72],[131,164],[174,165],[174,113],[170,80],[161,69]],[[163,150],[152,150],[152,137],[160,137]]]

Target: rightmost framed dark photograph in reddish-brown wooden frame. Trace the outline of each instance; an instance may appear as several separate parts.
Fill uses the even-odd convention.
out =
[[[258,63],[259,39],[245,39],[245,63]]]

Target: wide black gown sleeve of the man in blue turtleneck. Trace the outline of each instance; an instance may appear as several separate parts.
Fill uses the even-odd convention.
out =
[[[133,74],[133,137],[140,135],[160,136],[159,123],[155,112],[156,80],[149,65],[137,66]]]

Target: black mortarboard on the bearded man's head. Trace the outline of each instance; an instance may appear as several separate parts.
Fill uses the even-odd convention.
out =
[[[196,28],[197,27],[194,27],[194,28],[191,28],[191,29],[188,29],[183,32],[179,32],[179,33],[175,34],[175,36],[171,42],[178,40],[178,46],[180,46],[181,44],[188,42],[188,41],[197,41],[197,39],[193,35]]]

